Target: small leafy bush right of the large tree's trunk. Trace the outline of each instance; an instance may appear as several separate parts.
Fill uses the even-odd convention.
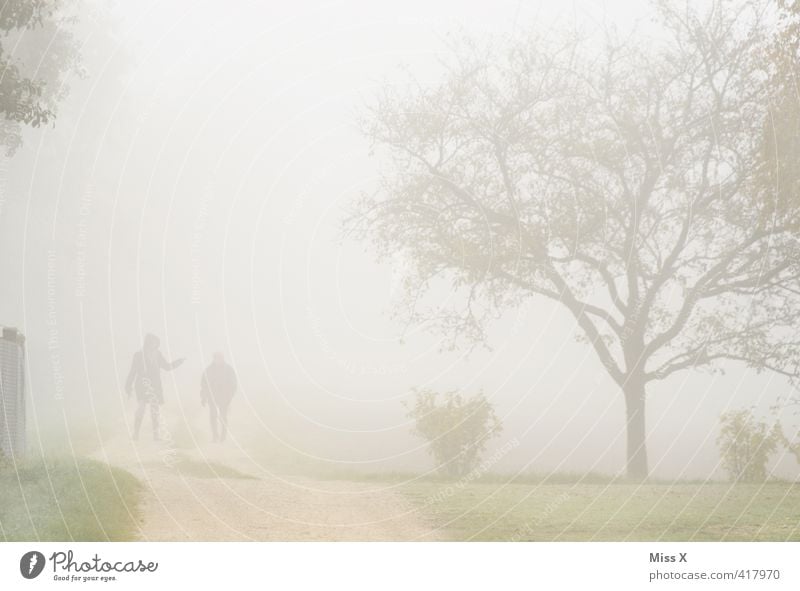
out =
[[[735,482],[761,482],[767,478],[767,462],[784,442],[779,423],[770,427],[749,410],[732,410],[720,417],[722,465]]]

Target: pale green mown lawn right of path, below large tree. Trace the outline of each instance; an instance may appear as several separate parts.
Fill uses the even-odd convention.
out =
[[[453,540],[800,541],[800,484],[429,481],[400,490]]]

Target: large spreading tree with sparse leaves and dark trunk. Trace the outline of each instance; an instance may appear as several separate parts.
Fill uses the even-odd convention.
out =
[[[408,319],[474,344],[527,298],[562,304],[624,394],[635,478],[648,384],[725,360],[800,375],[798,209],[764,182],[768,5],[688,6],[624,41],[465,41],[363,121],[385,165],[353,219],[413,261]],[[425,306],[439,281],[457,308]]]

